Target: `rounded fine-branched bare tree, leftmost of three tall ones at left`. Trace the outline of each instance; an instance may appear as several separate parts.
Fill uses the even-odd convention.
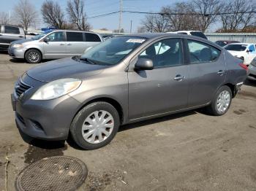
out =
[[[15,20],[20,26],[23,26],[25,30],[28,30],[31,23],[37,21],[37,12],[34,10],[33,5],[29,0],[20,0],[15,5]]]

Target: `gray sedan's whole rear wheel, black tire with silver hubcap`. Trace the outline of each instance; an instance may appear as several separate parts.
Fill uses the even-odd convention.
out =
[[[206,109],[210,114],[216,116],[222,115],[225,114],[227,110],[230,108],[231,101],[232,92],[230,90],[230,87],[224,85],[219,88],[213,100],[211,101],[211,104],[207,106]]]

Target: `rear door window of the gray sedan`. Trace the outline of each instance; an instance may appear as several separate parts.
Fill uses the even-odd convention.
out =
[[[190,63],[213,62],[219,58],[221,51],[217,48],[211,47],[203,42],[193,40],[188,40],[187,42],[189,46]]]

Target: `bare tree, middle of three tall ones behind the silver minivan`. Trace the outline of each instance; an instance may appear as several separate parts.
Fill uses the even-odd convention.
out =
[[[54,26],[56,28],[63,28],[65,23],[64,12],[57,1],[44,1],[41,7],[41,12],[45,23],[48,23],[50,26]]]

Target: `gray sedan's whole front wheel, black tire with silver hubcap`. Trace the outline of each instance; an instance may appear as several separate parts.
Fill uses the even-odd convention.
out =
[[[120,125],[116,109],[99,101],[85,106],[72,121],[70,133],[83,149],[98,149],[109,144]]]

